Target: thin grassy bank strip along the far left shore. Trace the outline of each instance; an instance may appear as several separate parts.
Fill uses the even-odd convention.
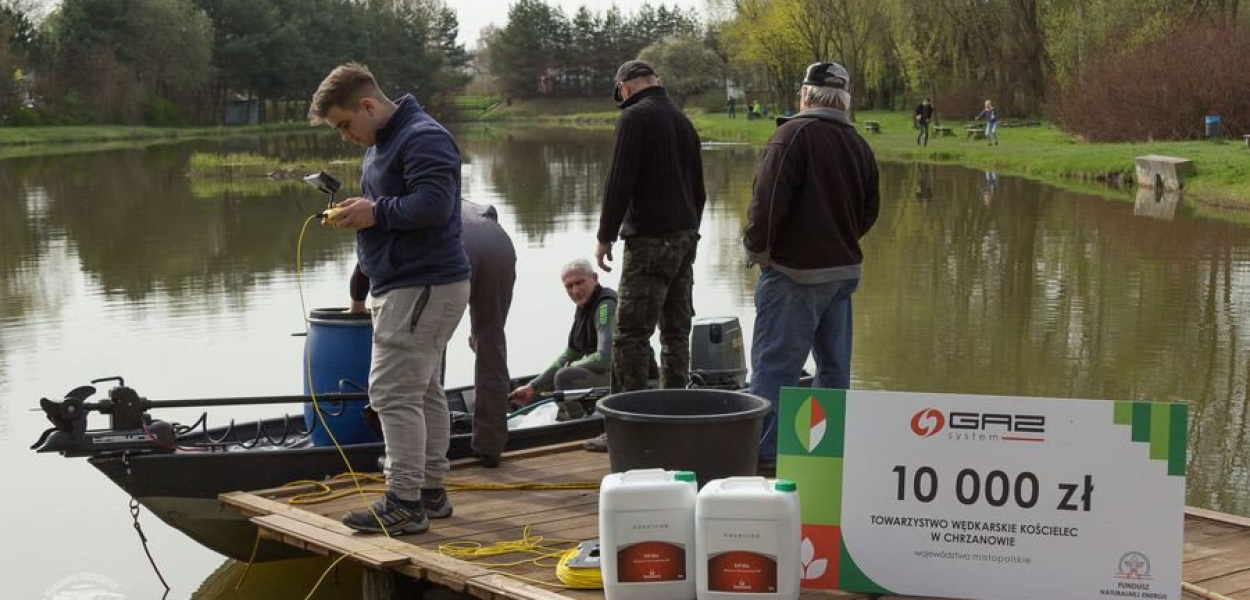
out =
[[[84,125],[55,128],[0,128],[0,146],[38,146],[48,144],[102,144],[114,141],[186,140],[228,135],[256,135],[308,130],[306,122],[276,122],[239,128],[132,128],[125,125]]]

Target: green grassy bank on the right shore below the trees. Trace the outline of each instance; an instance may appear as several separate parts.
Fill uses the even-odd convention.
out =
[[[776,130],[772,119],[730,120],[724,114],[692,114],[691,119],[709,140],[764,144]],[[954,138],[930,135],[929,146],[918,148],[916,130],[908,112],[860,111],[855,119],[859,124],[880,121],[880,134],[864,134],[879,159],[959,164],[1128,201],[1134,196],[1130,184],[1135,156],[1181,156],[1192,160],[1198,168],[1198,175],[1189,178],[1185,188],[1188,198],[1199,200],[1200,212],[1250,210],[1250,150],[1239,142],[1090,144],[1042,124],[1036,128],[1000,128],[1000,145],[990,148],[984,140],[965,138],[966,121],[945,121],[944,125],[955,132]],[[864,130],[862,125],[860,130]],[[1109,186],[1105,181],[1122,181],[1128,188]]]

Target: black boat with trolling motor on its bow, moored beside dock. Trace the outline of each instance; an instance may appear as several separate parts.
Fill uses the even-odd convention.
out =
[[[122,384],[120,378],[119,384]],[[95,381],[99,382],[99,381]],[[518,382],[519,385],[519,382]],[[256,528],[239,510],[222,505],[218,496],[229,491],[276,488],[295,480],[324,480],[346,472],[344,458],[334,446],[318,446],[302,418],[289,416],[209,429],[205,416],[190,426],[152,420],[152,408],[286,404],[308,396],[269,396],[205,400],[148,400],[119,385],[108,399],[91,402],[92,386],[71,390],[61,400],[40,404],[56,425],[31,446],[39,452],[88,456],[88,462],[171,528],[201,545],[236,560],[248,560],[256,541]],[[592,408],[606,390],[562,394]],[[450,459],[471,456],[471,386],[449,389],[452,435]],[[319,395],[325,410],[365,394]],[[342,409],[339,409],[342,410]],[[110,415],[111,426],[88,430],[91,411]],[[314,425],[315,428],[316,425]],[[516,429],[509,432],[506,450],[536,448],[592,438],[604,431],[602,419],[592,410],[578,420]],[[381,442],[342,446],[351,469],[376,471]],[[261,541],[256,560],[306,556],[292,548]]]

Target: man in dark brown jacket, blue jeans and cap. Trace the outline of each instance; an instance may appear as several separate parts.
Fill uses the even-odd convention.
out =
[[[809,66],[799,94],[799,114],[778,119],[764,150],[742,235],[750,262],[760,265],[750,391],[772,404],[762,470],[776,465],[780,389],[799,384],[809,352],[816,388],[850,388],[859,240],[880,209],[876,158],[846,118],[846,69]]]

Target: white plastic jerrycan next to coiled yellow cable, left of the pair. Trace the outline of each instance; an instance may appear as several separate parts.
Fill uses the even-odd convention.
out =
[[[695,598],[695,474],[639,469],[599,488],[599,556],[608,600]]]

